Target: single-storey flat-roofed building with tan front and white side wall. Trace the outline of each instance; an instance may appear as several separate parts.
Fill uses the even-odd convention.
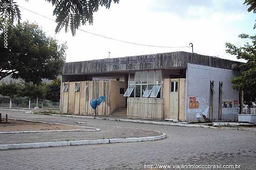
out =
[[[232,89],[239,62],[189,52],[65,63],[61,113],[187,122],[236,121],[242,99]]]

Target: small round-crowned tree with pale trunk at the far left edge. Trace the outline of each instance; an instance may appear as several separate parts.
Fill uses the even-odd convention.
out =
[[[18,94],[20,91],[20,84],[16,82],[2,82],[0,84],[0,94],[3,96],[10,97],[9,108],[12,108],[12,98]]]

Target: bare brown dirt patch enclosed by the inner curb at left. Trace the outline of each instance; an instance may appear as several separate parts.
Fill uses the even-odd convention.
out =
[[[39,122],[30,122],[23,120],[2,119],[0,123],[0,132],[16,132],[16,131],[54,131],[54,130],[72,130],[72,129],[88,129],[85,127],[53,125]]]

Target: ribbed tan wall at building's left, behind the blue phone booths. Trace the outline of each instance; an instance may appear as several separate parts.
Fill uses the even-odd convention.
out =
[[[63,92],[63,97],[61,101],[61,113],[85,114],[85,115],[94,114],[94,110],[90,106],[90,101],[92,99],[96,99],[99,96],[104,95],[104,91],[103,91],[104,82],[105,82],[105,88],[106,88],[106,94],[105,94],[106,100],[102,102],[100,106],[98,106],[97,114],[102,116],[103,115],[108,116],[110,113],[110,101],[111,101],[110,98],[111,97],[116,98],[115,95],[110,95],[109,82],[112,82],[112,81],[108,81],[108,80],[77,82],[77,83],[80,83],[79,92],[74,92],[74,87],[76,82],[62,82],[61,91],[63,91],[64,83],[69,84],[69,87],[68,87],[68,92]],[[95,86],[95,84],[98,84],[98,85]]]

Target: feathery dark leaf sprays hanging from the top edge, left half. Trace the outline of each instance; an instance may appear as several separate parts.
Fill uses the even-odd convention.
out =
[[[28,0],[27,0],[28,1]],[[59,32],[63,27],[67,32],[67,28],[70,27],[72,35],[75,35],[75,30],[82,24],[87,22],[93,24],[93,14],[99,10],[99,6],[104,6],[107,9],[110,8],[112,1],[118,3],[119,0],[46,0],[55,7],[53,15],[56,16],[57,27],[55,32]],[[0,1],[0,13],[3,13],[5,9],[2,7],[6,5],[6,11],[10,15],[11,22],[14,19],[18,19],[20,22],[21,14],[19,6],[14,0],[1,0]],[[3,15],[3,14],[2,14]]]

